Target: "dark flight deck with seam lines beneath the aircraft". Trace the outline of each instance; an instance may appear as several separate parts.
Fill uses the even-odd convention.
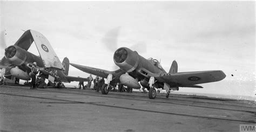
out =
[[[255,101],[0,86],[1,131],[239,131]]]

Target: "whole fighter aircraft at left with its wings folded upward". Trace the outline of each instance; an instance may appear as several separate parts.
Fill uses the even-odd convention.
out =
[[[33,41],[36,44],[39,56],[28,52]],[[4,55],[0,61],[0,68],[5,71],[2,73],[4,77],[9,79],[15,77],[22,80],[30,80],[29,72],[31,71],[32,63],[36,62],[39,71],[52,82],[87,81],[86,78],[68,76],[69,59],[65,57],[61,63],[48,39],[37,31],[25,31],[14,45],[5,48]]]

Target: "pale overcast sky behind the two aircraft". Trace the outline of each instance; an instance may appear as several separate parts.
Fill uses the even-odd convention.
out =
[[[13,45],[22,30],[44,34],[59,59],[116,70],[114,49],[129,47],[169,71],[222,70],[227,77],[181,92],[255,93],[255,2],[1,2],[1,31]],[[117,32],[117,45],[106,43]],[[2,58],[4,46],[1,44]],[[29,49],[38,54],[35,45]],[[233,76],[232,76],[233,74]],[[88,74],[71,66],[70,75]],[[77,85],[77,83],[72,83]]]

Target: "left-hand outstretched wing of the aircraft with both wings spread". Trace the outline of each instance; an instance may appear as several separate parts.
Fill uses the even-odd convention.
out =
[[[77,65],[77,64],[72,64],[70,63],[70,65],[72,65],[73,67],[78,68],[79,70],[89,73],[89,74],[93,74],[93,75],[97,75],[99,77],[103,77],[103,78],[107,78],[107,75],[109,74],[113,74],[113,76],[115,78],[119,78],[120,75],[124,74],[125,72],[122,70],[117,70],[117,71],[106,71],[106,70],[102,70],[99,68],[93,68],[93,67],[89,67],[89,66],[82,66],[82,65]]]

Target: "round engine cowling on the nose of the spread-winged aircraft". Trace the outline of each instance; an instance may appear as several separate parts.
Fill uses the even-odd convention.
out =
[[[114,63],[126,72],[132,72],[139,64],[139,54],[126,47],[118,48],[113,59]]]

